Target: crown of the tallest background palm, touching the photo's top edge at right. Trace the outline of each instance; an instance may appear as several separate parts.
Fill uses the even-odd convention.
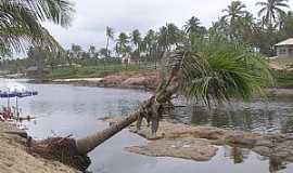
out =
[[[258,16],[263,16],[264,23],[268,27],[272,27],[273,23],[277,22],[277,16],[282,15],[285,12],[283,8],[289,8],[288,0],[267,0],[259,1],[256,5],[262,6],[258,11]]]

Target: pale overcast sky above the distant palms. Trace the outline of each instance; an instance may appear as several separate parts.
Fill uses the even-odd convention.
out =
[[[201,19],[202,25],[211,26],[222,15],[222,9],[231,0],[72,0],[76,13],[72,27],[64,29],[46,24],[50,32],[64,45],[80,44],[105,46],[105,28],[111,26],[116,32],[130,32],[133,29],[146,31],[157,29],[166,23],[182,26],[191,16]],[[256,13],[257,0],[242,0],[247,10]],[[293,6],[292,1],[290,5]]]

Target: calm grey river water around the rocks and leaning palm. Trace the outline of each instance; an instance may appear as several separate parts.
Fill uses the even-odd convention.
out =
[[[150,96],[148,92],[135,90],[66,84],[24,84],[39,92],[38,96],[20,99],[22,115],[37,117],[36,120],[30,122],[23,122],[28,128],[29,135],[36,138],[54,135],[67,136],[69,134],[78,137],[101,131],[107,124],[100,121],[99,118],[126,115],[132,111],[141,101]],[[7,101],[3,99],[0,102],[2,105],[5,105],[5,103]],[[293,112],[291,102],[273,101],[264,104],[256,101],[253,104],[239,103],[235,105],[241,105],[240,108],[243,109],[243,111],[237,111],[239,115],[227,114],[227,109],[224,109],[224,107],[218,108],[218,111],[214,110],[214,112],[189,107],[177,109],[173,112],[171,118],[177,122],[242,129],[262,133],[290,131],[290,128],[283,127],[290,127],[286,121],[290,121],[290,114]],[[228,146],[219,147],[217,155],[207,162],[168,157],[154,158],[124,150],[126,146],[145,143],[146,139],[124,130],[89,154],[92,160],[89,171],[93,173],[293,172],[293,164],[276,163],[269,158],[264,158],[249,149],[230,148]],[[237,156],[234,149],[237,149]]]

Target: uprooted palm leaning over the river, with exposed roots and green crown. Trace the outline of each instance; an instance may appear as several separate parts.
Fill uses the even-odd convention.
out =
[[[231,97],[247,101],[272,82],[266,62],[245,46],[219,36],[195,42],[194,39],[191,45],[164,54],[161,84],[133,114],[84,138],[29,139],[29,150],[85,171],[90,164],[87,154],[135,121],[140,129],[142,119],[146,119],[155,135],[163,107],[171,102],[175,94],[203,101],[209,106],[229,102]]]

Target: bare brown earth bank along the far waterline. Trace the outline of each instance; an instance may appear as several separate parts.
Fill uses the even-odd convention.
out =
[[[160,80],[158,71],[126,71],[101,78],[34,79],[29,82],[154,91]],[[268,97],[293,97],[293,88],[268,88],[265,91]]]

